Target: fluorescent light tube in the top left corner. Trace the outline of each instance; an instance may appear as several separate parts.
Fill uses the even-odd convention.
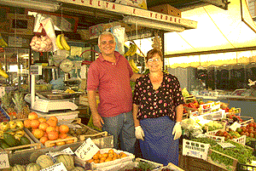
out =
[[[43,1],[33,1],[33,0],[0,0],[0,4],[15,6],[26,9],[38,9],[49,12],[55,12],[59,9],[60,5],[58,3],[46,3]]]

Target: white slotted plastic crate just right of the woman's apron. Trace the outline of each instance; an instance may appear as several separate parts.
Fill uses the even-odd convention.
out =
[[[183,156],[197,157],[207,160],[209,147],[209,144],[183,139]]]

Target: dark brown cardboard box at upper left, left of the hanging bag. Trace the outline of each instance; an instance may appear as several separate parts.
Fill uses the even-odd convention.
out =
[[[34,27],[34,17],[26,14],[7,14],[9,20],[9,32],[17,34],[32,35]]]

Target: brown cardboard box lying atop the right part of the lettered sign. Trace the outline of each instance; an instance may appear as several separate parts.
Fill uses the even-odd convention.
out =
[[[172,7],[170,4],[161,4],[158,6],[151,7],[148,10],[162,14],[171,14],[176,17],[181,17],[181,11],[179,9]]]

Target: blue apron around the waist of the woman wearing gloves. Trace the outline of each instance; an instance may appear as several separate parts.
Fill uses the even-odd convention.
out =
[[[175,125],[170,117],[147,118],[140,121],[144,140],[139,140],[143,158],[152,162],[178,166],[178,139],[173,140]]]

